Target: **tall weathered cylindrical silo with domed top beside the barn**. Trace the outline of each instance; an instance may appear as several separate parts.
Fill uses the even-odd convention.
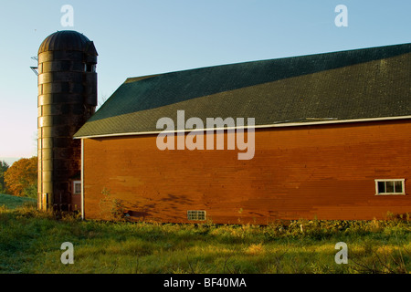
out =
[[[80,141],[74,133],[97,106],[97,51],[79,32],[58,31],[38,49],[38,208],[72,209]]]

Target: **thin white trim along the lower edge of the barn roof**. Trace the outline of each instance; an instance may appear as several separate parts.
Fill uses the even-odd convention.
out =
[[[370,119],[353,119],[353,120],[320,120],[320,121],[305,121],[305,122],[279,122],[269,125],[257,125],[253,126],[254,129],[265,128],[284,128],[284,127],[301,127],[311,125],[326,125],[326,124],[340,124],[350,122],[364,122],[364,121],[379,121],[379,120],[406,120],[411,119],[411,116],[400,117],[385,117],[385,118],[370,118]],[[206,131],[206,130],[237,130],[248,129],[248,126],[243,127],[230,127],[230,128],[211,128],[211,129],[185,129],[185,130],[154,130],[154,131],[140,131],[140,132],[127,132],[127,133],[114,133],[114,134],[101,134],[91,136],[79,136],[74,139],[92,139],[92,138],[105,138],[105,137],[119,137],[119,136],[138,136],[138,135],[153,135],[160,133],[178,133],[178,132],[193,132],[193,131]]]

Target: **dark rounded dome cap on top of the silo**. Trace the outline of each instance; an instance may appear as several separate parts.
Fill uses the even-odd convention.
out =
[[[61,30],[47,36],[38,48],[38,55],[46,51],[81,51],[98,55],[93,42],[74,30]]]

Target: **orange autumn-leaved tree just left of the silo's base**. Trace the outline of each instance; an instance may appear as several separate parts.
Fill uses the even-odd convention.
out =
[[[5,187],[16,196],[37,198],[37,156],[13,163],[5,172]]]

